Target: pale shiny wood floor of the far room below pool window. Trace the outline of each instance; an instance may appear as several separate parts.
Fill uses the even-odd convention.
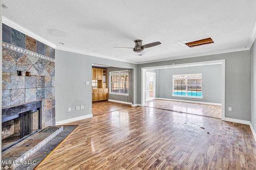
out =
[[[221,119],[221,106],[169,100],[151,100],[146,103],[146,106]]]

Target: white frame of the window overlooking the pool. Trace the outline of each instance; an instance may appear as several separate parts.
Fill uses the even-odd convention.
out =
[[[188,96],[188,86],[196,86],[194,84],[187,84],[188,79],[191,79],[189,76],[192,76],[192,75],[201,75],[200,78],[202,79],[202,73],[198,73],[198,74],[175,74],[175,75],[172,75],[172,96],[174,96],[174,97],[182,97],[182,98],[200,98],[200,99],[203,98],[203,92],[202,92],[202,97]],[[186,84],[175,84],[175,85],[186,86],[186,95],[174,95],[174,79],[179,79],[179,78],[174,78],[174,76],[187,76],[187,78],[180,78],[180,79],[186,79]],[[202,84],[200,84],[200,86],[201,86],[201,89],[203,89],[203,82],[202,82]]]

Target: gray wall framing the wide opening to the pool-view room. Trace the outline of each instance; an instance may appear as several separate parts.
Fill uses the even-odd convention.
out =
[[[138,103],[141,103],[141,68],[226,59],[225,117],[250,121],[250,51],[192,57],[138,65]],[[232,107],[232,111],[228,111]]]

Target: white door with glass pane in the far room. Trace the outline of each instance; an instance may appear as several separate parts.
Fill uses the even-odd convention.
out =
[[[156,98],[156,73],[146,72],[146,101]]]

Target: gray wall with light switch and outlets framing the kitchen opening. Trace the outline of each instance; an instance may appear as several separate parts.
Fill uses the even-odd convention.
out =
[[[55,51],[56,122],[92,114],[92,63],[133,69],[132,103],[137,103],[136,64],[103,59],[67,51]],[[89,85],[85,82],[89,81]],[[84,106],[75,110],[76,106]],[[68,112],[68,107],[72,107]]]

